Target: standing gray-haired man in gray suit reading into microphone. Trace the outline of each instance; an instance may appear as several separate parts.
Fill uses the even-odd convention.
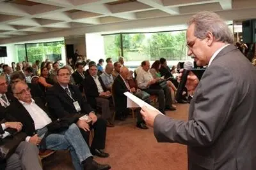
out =
[[[233,35],[216,13],[203,11],[188,22],[188,55],[208,66],[193,93],[189,120],[174,120],[142,108],[159,142],[188,145],[189,170],[256,169],[256,69],[236,49]]]

